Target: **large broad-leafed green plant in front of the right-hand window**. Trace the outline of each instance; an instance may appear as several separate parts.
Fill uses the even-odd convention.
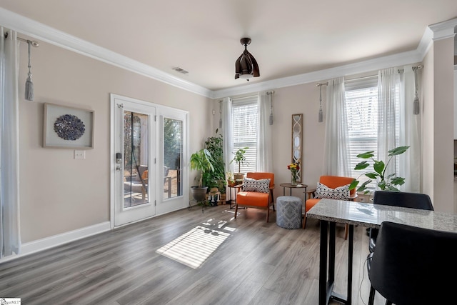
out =
[[[407,151],[409,146],[399,146],[396,147],[395,149],[391,149],[388,151],[388,156],[389,159],[387,163],[384,163],[383,161],[378,161],[373,158],[374,156],[374,151],[367,151],[363,154],[358,154],[357,158],[361,159],[371,159],[373,161],[373,164],[370,164],[367,160],[359,162],[354,169],[356,170],[363,170],[366,169],[368,166],[373,166],[373,171],[367,171],[362,175],[365,175],[369,178],[369,180],[363,182],[361,186],[358,186],[359,182],[358,179],[354,179],[349,186],[349,189],[355,189],[358,186],[357,191],[363,191],[363,194],[367,194],[370,192],[366,188],[366,186],[373,181],[373,179],[376,179],[377,186],[381,190],[385,191],[400,191],[397,189],[397,186],[403,185],[405,183],[405,179],[402,177],[396,176],[396,173],[389,174],[386,176],[386,169],[388,168],[388,165],[390,164],[393,156],[398,156],[403,154],[405,151]],[[360,176],[359,176],[360,178]]]

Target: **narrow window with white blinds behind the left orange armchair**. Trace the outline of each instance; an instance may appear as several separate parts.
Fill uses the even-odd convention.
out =
[[[241,173],[256,171],[257,133],[258,133],[258,96],[250,96],[232,101],[233,153],[240,148],[246,151],[247,164],[241,166]],[[236,164],[234,172],[238,173]]]

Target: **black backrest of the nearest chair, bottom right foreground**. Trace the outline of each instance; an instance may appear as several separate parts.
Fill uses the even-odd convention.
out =
[[[457,233],[383,222],[368,276],[393,304],[440,304],[455,289],[456,251]]]

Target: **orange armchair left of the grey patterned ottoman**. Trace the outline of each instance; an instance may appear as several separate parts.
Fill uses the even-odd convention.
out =
[[[266,209],[266,222],[270,216],[270,206],[273,206],[273,189],[274,189],[274,174],[273,173],[248,173],[246,178],[255,180],[270,179],[268,186],[260,185],[257,189],[253,185],[256,181],[253,181],[253,185],[243,183],[241,191],[236,194],[236,205],[235,205],[235,219],[238,214],[238,206],[246,208]]]

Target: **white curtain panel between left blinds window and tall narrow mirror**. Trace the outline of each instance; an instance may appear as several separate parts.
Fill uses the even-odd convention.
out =
[[[270,125],[271,94],[261,93],[258,104],[257,171],[273,171],[273,144]]]

